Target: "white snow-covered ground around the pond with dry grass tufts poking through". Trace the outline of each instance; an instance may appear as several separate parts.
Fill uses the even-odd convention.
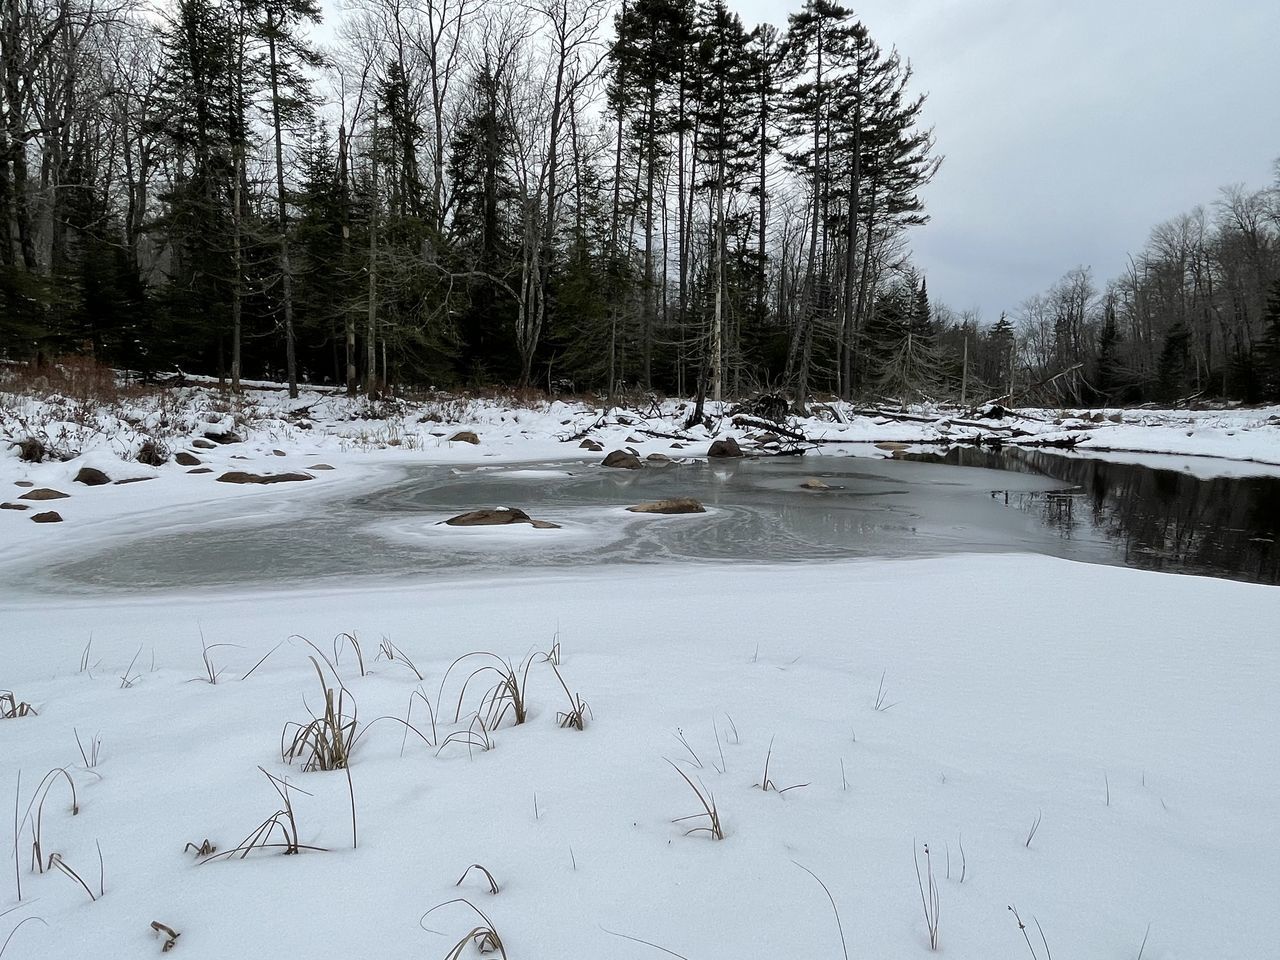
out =
[[[1124,412],[1091,422],[1079,448],[1280,463],[1276,412]],[[800,429],[865,442],[854,449],[868,456],[977,429],[841,416]],[[1080,425],[1030,416],[1018,421],[1028,434]],[[221,515],[356,490],[385,463],[600,457],[584,433],[641,456],[700,456],[713,439],[685,431],[673,403],[370,410],[264,392],[239,408],[201,389],[119,408],[4,394],[0,424],[76,453],[0,453],[0,499],[22,502],[15,483],[70,494],[0,511],[0,543],[26,564],[193,504]],[[448,439],[460,430],[479,443]],[[241,442],[192,447],[206,433]],[[672,451],[658,434],[691,439]],[[148,436],[201,466],[136,463]],[[154,479],[84,486],[82,466]],[[227,470],[314,480],[218,483]],[[46,508],[64,522],[27,520]],[[1280,856],[1276,622],[1274,588],[1027,554],[92,599],[35,596],[12,573],[0,691],[33,712],[0,719],[0,795],[18,806],[15,847],[0,844],[13,856],[0,945],[22,924],[0,952],[147,956],[168,937],[157,922],[192,960],[445,957],[492,922],[512,960],[840,957],[841,928],[847,956],[923,957],[932,870],[946,956],[1265,956]],[[343,632],[364,666],[335,645]],[[571,700],[540,655],[553,649],[588,707],[582,731],[558,726]],[[529,660],[524,724],[508,709],[480,730],[498,676],[466,681],[493,662],[449,669],[472,652]],[[349,780],[282,758],[289,724],[324,716],[317,668],[353,722]],[[59,768],[67,778],[44,790]],[[288,780],[297,842],[324,850],[207,863],[184,850],[232,852],[280,810],[265,774]],[[723,840],[686,835],[708,820],[681,774],[714,797]],[[37,833],[44,872],[31,869]],[[273,828],[269,842],[284,837]],[[470,864],[499,892],[479,870],[454,886]]]

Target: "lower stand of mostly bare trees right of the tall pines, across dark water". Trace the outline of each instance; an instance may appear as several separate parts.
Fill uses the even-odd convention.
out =
[[[1280,161],[1152,229],[1124,273],[1068,271],[1016,314],[1028,381],[1065,403],[1280,401]]]

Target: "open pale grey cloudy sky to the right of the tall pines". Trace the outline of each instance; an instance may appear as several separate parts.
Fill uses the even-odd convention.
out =
[[[1101,284],[1157,223],[1272,182],[1280,0],[845,1],[929,93],[934,302],[989,321],[1073,266]],[[800,3],[731,5],[781,26]]]

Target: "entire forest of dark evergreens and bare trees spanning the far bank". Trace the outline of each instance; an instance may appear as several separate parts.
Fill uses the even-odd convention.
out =
[[[955,310],[911,257],[925,92],[831,0],[783,28],[724,0],[352,0],[323,27],[316,0],[6,0],[0,72],[10,361],[294,393],[1280,399],[1280,165],[1119,276]]]

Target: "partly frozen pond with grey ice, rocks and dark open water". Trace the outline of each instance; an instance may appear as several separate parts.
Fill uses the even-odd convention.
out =
[[[466,577],[596,563],[790,562],[1032,552],[1277,580],[1280,480],[1197,480],[1147,466],[954,449],[929,462],[844,456],[611,470],[591,462],[388,470],[371,492],[287,497],[104,541],[46,564],[47,591]],[[832,489],[801,488],[818,477]],[[695,497],[707,513],[630,504]],[[1267,506],[1270,504],[1270,507]],[[448,527],[481,507],[559,524]]]

